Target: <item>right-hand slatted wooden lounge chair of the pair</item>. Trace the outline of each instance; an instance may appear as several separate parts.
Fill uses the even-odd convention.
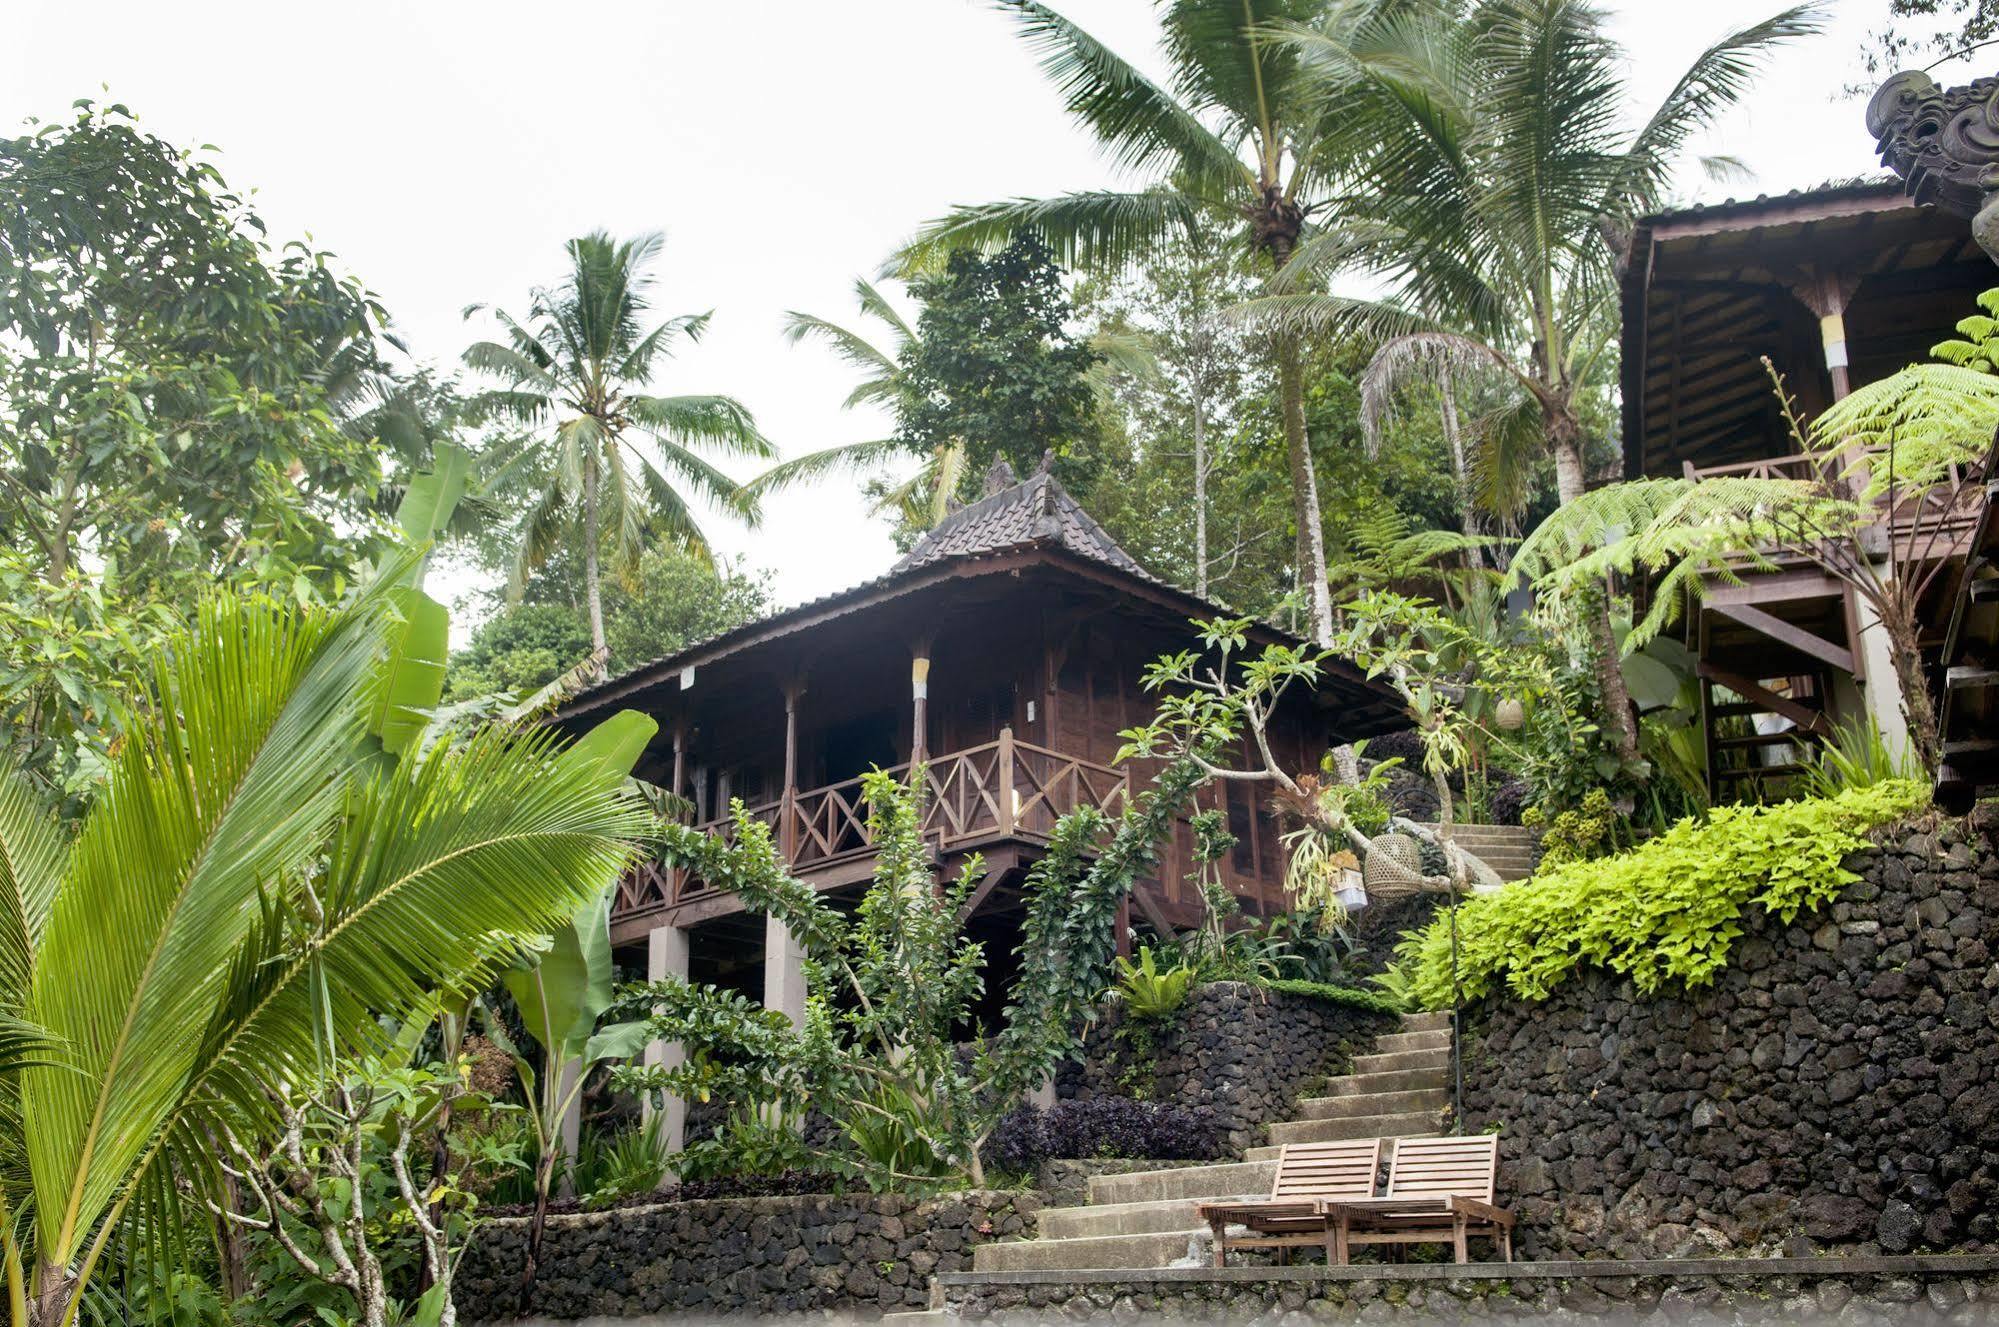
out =
[[[1491,1239],[1513,1261],[1513,1213],[1497,1205],[1499,1137],[1405,1137],[1395,1141],[1381,1197],[1331,1199],[1331,1257],[1353,1245],[1447,1243],[1467,1261],[1471,1237]]]

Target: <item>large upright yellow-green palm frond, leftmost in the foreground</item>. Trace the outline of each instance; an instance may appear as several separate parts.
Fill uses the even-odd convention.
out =
[[[70,855],[24,1017],[36,1245],[66,1265],[180,1097],[230,957],[272,881],[302,877],[362,751],[384,600],[340,614],[210,600],[160,662]],[[116,925],[104,925],[116,917]]]

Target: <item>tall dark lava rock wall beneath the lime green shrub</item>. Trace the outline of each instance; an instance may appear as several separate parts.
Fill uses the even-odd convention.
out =
[[[1999,843],[1897,829],[1709,989],[1589,971],[1467,1017],[1523,1257],[1999,1247]]]

